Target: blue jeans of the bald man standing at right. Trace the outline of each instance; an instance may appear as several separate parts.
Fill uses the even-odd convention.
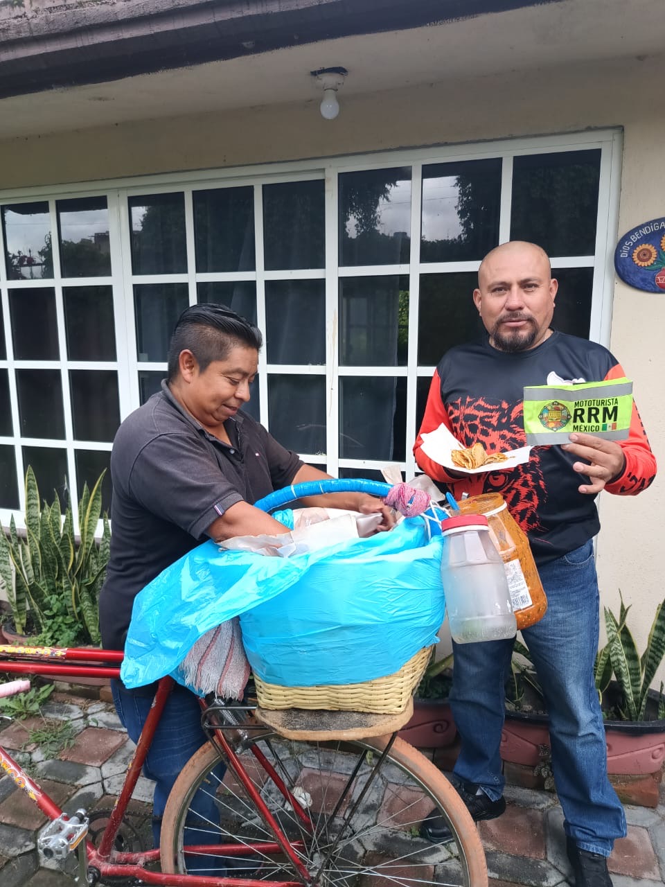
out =
[[[547,612],[522,636],[550,715],[552,772],[564,828],[583,850],[608,856],[614,838],[626,835],[626,820],[607,779],[605,730],[594,685],[599,590],[591,540],[538,572]],[[512,644],[453,642],[450,703],[462,739],[454,773],[492,800],[501,797],[505,783],[499,746]]]

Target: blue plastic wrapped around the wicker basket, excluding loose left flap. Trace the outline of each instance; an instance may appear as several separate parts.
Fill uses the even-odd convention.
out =
[[[285,687],[393,674],[443,622],[442,537],[419,518],[338,546],[283,593],[240,616],[254,672]]]

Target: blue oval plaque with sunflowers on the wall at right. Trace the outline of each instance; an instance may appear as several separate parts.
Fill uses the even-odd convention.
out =
[[[629,287],[647,293],[665,291],[665,218],[652,219],[626,232],[614,250],[616,273]]]

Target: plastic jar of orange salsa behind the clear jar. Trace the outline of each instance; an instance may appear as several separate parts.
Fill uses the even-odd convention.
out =
[[[485,493],[461,499],[458,506],[461,514],[484,514],[487,518],[489,535],[504,561],[518,629],[538,622],[547,609],[543,583],[527,535],[508,511],[504,497]]]

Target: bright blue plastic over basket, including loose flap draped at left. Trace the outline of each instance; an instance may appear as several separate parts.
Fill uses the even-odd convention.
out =
[[[290,558],[206,542],[134,601],[121,678],[172,673],[193,643],[241,617],[254,671],[284,686],[348,684],[400,669],[443,621],[442,537],[420,518],[389,533]]]

